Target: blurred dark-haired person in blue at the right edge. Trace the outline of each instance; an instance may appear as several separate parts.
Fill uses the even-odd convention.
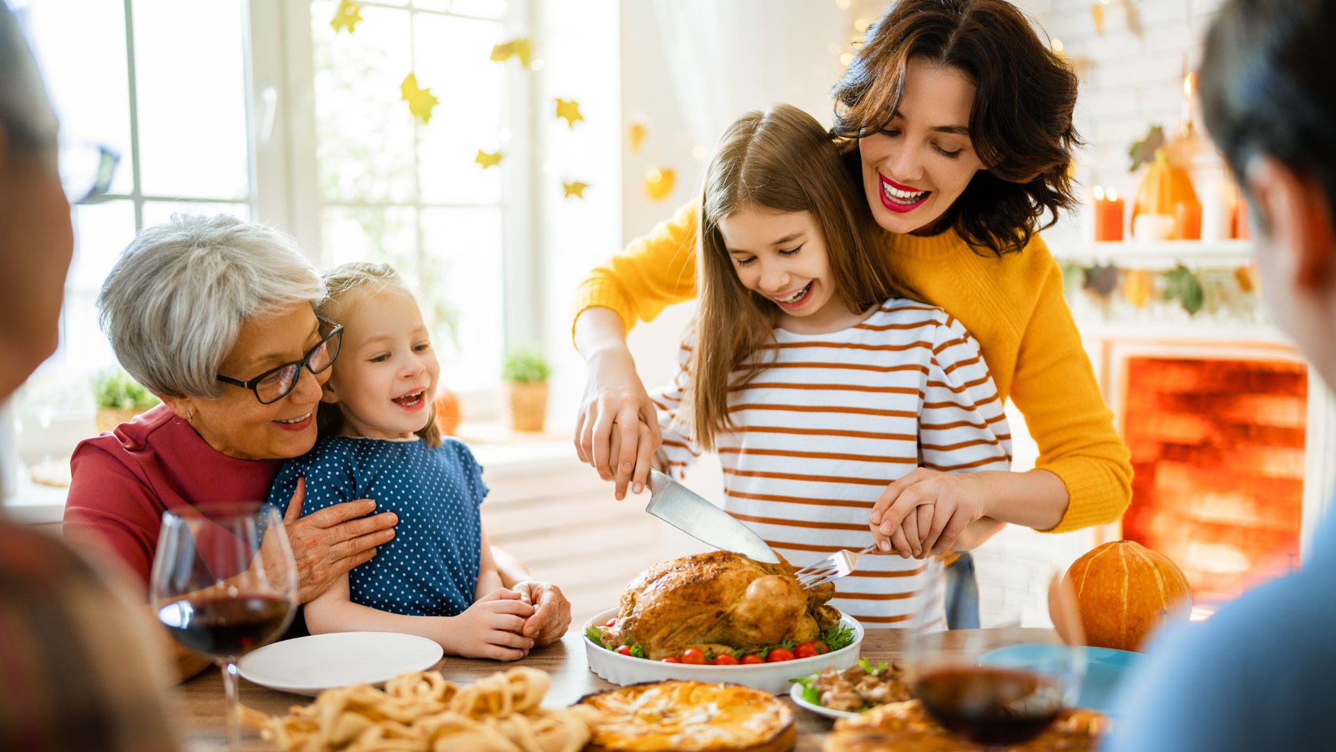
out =
[[[1336,3],[1229,0],[1201,64],[1206,128],[1238,178],[1276,324],[1336,385]],[[1332,749],[1336,514],[1303,567],[1161,636],[1108,748]]]

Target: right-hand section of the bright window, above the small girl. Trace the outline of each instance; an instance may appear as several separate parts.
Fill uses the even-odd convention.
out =
[[[361,3],[351,33],[330,24],[337,0],[310,3],[315,205],[322,261],[383,261],[414,282],[434,332],[441,380],[456,391],[497,384],[505,340],[504,177],[480,150],[509,139],[505,40],[497,0]],[[409,116],[413,74],[438,103]],[[518,139],[516,139],[518,140]],[[509,167],[508,167],[509,169]]]

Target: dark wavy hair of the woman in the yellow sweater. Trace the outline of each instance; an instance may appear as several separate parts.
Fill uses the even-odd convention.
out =
[[[970,140],[986,170],[941,225],[977,252],[1019,252],[1077,205],[1069,174],[1082,145],[1071,124],[1075,74],[1005,0],[899,0],[867,29],[835,84],[831,135],[883,130],[904,96],[912,58],[962,71],[975,86]]]

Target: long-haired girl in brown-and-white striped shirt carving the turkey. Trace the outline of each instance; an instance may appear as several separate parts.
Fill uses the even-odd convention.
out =
[[[717,454],[724,510],[795,566],[871,543],[874,502],[916,467],[1010,466],[978,343],[914,300],[868,241],[870,222],[815,119],[787,104],[737,119],[705,175],[699,316],[672,385],[651,395],[664,436],[653,464],[681,478],[703,451]],[[931,550],[933,515],[918,507],[896,542]],[[973,522],[953,549],[1001,526]],[[895,626],[941,566],[864,557],[831,605]],[[926,595],[945,625],[941,589]]]

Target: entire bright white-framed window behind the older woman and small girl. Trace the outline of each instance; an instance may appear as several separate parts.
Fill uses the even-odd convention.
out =
[[[474,157],[513,131],[526,140],[522,79],[489,59],[522,5],[366,1],[350,33],[330,23],[337,0],[9,1],[63,142],[120,154],[111,190],[73,209],[61,345],[16,400],[25,455],[59,456],[87,434],[90,380],[115,363],[98,292],[135,231],[174,211],[274,223],[322,268],[394,265],[434,329],[442,384],[497,385],[517,328],[504,290],[528,268],[509,250],[525,245],[508,236],[522,222],[506,218],[528,175],[521,158]],[[410,72],[440,100],[426,123],[401,99]]]

